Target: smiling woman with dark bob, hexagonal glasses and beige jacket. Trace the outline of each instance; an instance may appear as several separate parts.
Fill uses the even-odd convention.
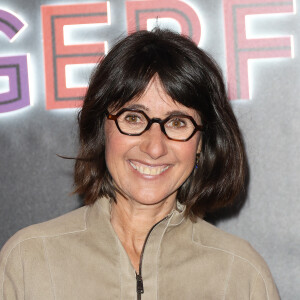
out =
[[[0,299],[279,299],[251,246],[203,221],[234,202],[245,154],[213,60],[156,29],[121,40],[79,114],[86,206],[17,233]]]

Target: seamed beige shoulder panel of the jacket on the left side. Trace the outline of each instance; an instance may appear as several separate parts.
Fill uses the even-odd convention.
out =
[[[68,233],[86,230],[86,213],[88,207],[84,206],[55,219],[25,227],[15,233],[4,245],[0,252],[0,259],[20,243],[36,238],[54,237]]]

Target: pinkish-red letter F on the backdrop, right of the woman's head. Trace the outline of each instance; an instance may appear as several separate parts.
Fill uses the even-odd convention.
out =
[[[249,99],[249,59],[292,57],[291,37],[247,39],[246,15],[293,12],[291,0],[226,0],[224,3],[230,99]]]

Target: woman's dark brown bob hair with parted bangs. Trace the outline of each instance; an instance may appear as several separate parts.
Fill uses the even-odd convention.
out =
[[[244,186],[246,159],[222,73],[189,38],[159,28],[120,40],[96,67],[78,115],[75,192],[85,204],[102,196],[116,201],[105,163],[105,111],[141,96],[154,76],[174,101],[195,109],[205,127],[198,168],[177,193],[186,216],[194,220],[233,204]]]

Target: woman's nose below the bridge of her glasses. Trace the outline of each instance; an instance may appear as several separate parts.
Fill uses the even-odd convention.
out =
[[[158,159],[167,154],[167,137],[157,123],[152,124],[149,130],[141,135],[140,150],[152,159]]]

